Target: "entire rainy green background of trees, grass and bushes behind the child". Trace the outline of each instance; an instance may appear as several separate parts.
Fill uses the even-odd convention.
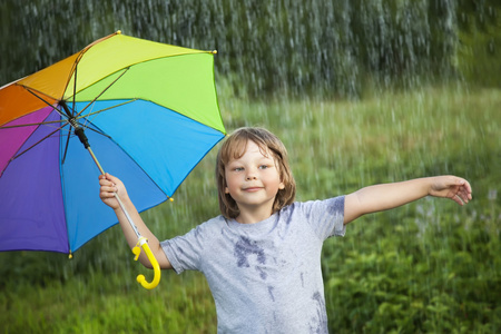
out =
[[[424,198],[325,243],[330,327],[341,333],[501,330],[498,1],[2,1],[0,85],[125,33],[218,49],[228,130],[289,149],[298,199],[438,174],[471,180],[465,207]],[[218,214],[212,151],[174,203],[143,214],[161,238]],[[119,227],[67,255],[0,254],[2,333],[214,333],[198,273],[150,273]]]

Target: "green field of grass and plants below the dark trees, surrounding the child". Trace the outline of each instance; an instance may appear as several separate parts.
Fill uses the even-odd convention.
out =
[[[336,333],[501,331],[501,94],[435,87],[361,101],[244,101],[220,97],[229,131],[264,126],[287,146],[298,199],[439,174],[466,177],[465,207],[424,198],[360,218],[324,245],[330,326]],[[160,238],[218,214],[216,151],[174,203],[144,218]],[[198,273],[164,272],[146,291],[114,227],[75,254],[0,254],[2,333],[215,333]]]

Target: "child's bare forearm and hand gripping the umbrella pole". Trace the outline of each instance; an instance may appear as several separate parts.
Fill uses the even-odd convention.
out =
[[[127,209],[127,213],[132,218],[134,225],[136,225],[136,228],[138,229],[140,235],[148,239],[149,248],[157,258],[160,268],[171,269],[173,266],[170,265],[169,259],[165,255],[164,249],[160,246],[160,243],[158,242],[157,237],[149,230],[146,224],[143,222],[141,216],[139,215],[129,196],[127,195],[127,190],[121,180],[107,173],[106,175],[99,176],[99,185],[100,185],[99,196],[106,205],[108,205],[115,210],[115,214],[118,217],[118,222],[120,223],[121,230],[124,232],[124,235],[127,239],[127,243],[129,244],[129,247],[132,248],[136,246],[137,235],[134,232],[132,227],[130,226],[127,216],[120,208],[118,200],[115,198],[115,193],[120,197],[125,208]],[[139,256],[139,262],[147,268],[153,267],[148,257],[144,252],[141,252]]]

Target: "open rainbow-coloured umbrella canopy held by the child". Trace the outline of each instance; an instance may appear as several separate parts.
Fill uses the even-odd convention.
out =
[[[117,224],[101,166],[139,212],[171,197],[226,134],[214,53],[118,31],[1,87],[0,250],[71,254]]]

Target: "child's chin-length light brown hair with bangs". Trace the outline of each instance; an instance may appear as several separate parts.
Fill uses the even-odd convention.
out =
[[[284,189],[279,189],[276,194],[272,214],[292,204],[296,197],[296,181],[288,166],[287,149],[281,139],[264,128],[239,128],[226,138],[217,154],[216,179],[219,209],[226,218],[236,218],[240,212],[236,202],[225,191],[227,187],[225,168],[230,160],[238,159],[245,154],[245,148],[249,140],[254,141],[263,154],[268,151],[273,155],[281,181],[285,186]]]

